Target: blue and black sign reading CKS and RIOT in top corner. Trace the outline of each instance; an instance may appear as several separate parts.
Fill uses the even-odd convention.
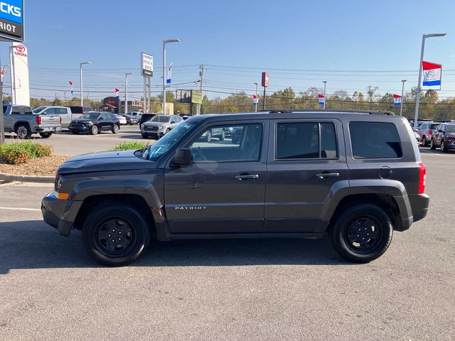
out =
[[[0,1],[0,40],[23,41],[23,0]]]

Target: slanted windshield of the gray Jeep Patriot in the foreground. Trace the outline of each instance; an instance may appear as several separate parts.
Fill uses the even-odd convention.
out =
[[[140,157],[151,161],[157,161],[166,153],[166,151],[171,149],[175,144],[178,144],[178,141],[180,141],[188,131],[193,129],[196,123],[196,121],[193,121],[193,123],[184,121],[181,124],[178,124],[178,126],[156,141],[155,144],[148,146]]]

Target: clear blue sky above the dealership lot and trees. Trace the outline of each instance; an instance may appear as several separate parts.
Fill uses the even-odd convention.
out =
[[[455,1],[146,1],[26,0],[26,43],[31,95],[63,98],[68,80],[99,99],[122,89],[124,72],[133,97],[141,96],[139,53],[154,55],[154,91],[161,85],[161,44],[173,63],[173,89],[198,80],[213,98],[246,90],[252,94],[260,72],[269,71],[270,91],[322,87],[327,92],[401,92],[417,85],[422,33],[425,60],[443,65],[441,97],[455,97]],[[7,45],[0,44],[2,63]],[[358,71],[358,72],[353,72]],[[41,90],[48,89],[48,90]],[[5,90],[9,93],[9,90]],[[77,91],[75,92],[77,94]],[[67,96],[69,94],[67,93]]]

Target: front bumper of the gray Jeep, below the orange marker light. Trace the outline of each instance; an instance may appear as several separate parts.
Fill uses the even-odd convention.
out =
[[[60,200],[52,191],[41,200],[43,220],[58,229],[63,236],[69,236],[82,201]]]

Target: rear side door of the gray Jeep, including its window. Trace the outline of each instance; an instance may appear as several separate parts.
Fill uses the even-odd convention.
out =
[[[267,232],[324,232],[321,213],[336,184],[348,180],[341,122],[273,120],[270,131]]]

